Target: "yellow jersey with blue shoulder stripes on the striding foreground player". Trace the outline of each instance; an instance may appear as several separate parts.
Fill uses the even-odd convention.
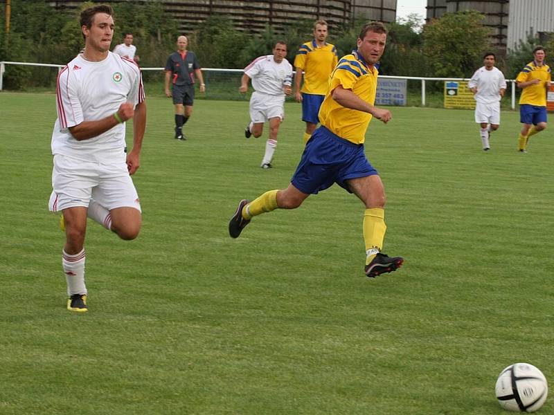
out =
[[[325,94],[325,99],[319,109],[321,124],[345,140],[355,144],[363,143],[373,116],[363,111],[345,108],[333,100],[331,95],[332,91],[340,85],[344,89],[350,89],[359,98],[373,105],[375,104],[375,93],[377,93],[378,74],[377,68],[368,66],[364,59],[356,53],[342,57],[331,75],[329,91]]]

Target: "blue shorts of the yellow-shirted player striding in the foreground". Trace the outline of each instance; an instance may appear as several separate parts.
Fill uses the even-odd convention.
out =
[[[291,183],[305,194],[316,194],[333,183],[352,193],[350,178],[378,174],[370,165],[363,144],[354,144],[321,126],[308,140]]]

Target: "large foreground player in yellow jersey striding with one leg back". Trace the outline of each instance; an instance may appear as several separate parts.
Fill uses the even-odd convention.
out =
[[[386,225],[385,193],[377,170],[364,152],[371,118],[386,123],[391,112],[374,107],[377,91],[375,64],[384,52],[386,28],[380,22],[366,24],[357,39],[357,50],[341,58],[332,72],[329,91],[321,104],[321,126],[314,131],[302,154],[291,183],[270,190],[258,199],[239,202],[229,221],[229,234],[237,238],[253,218],[264,212],[298,208],[303,201],[337,183],[354,193],[365,205],[363,234],[366,246],[365,273],[376,277],[402,266],[402,257],[381,253]]]

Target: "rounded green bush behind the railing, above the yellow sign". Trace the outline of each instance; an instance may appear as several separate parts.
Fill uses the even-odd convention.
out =
[[[446,13],[423,28],[423,53],[436,77],[470,77],[488,48],[489,29],[474,10]]]

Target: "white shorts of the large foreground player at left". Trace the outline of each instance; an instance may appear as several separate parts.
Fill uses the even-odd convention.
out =
[[[107,210],[135,208],[141,212],[139,195],[125,160],[96,163],[55,154],[52,187],[48,202],[51,212],[76,206],[88,208],[91,199]]]

